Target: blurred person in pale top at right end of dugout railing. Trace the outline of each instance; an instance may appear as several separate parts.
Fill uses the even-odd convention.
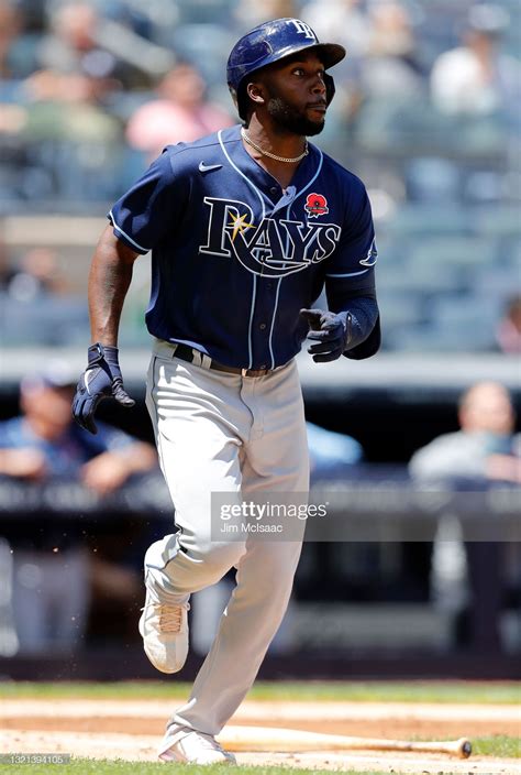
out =
[[[521,483],[521,435],[513,433],[516,413],[506,388],[478,382],[461,399],[461,430],[445,434],[411,458],[420,480],[454,477]]]

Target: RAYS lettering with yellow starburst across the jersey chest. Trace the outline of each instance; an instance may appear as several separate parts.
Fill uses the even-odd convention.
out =
[[[243,201],[204,197],[207,242],[200,253],[237,259],[248,272],[282,277],[326,259],[341,236],[337,223],[308,223],[264,217],[255,223]]]

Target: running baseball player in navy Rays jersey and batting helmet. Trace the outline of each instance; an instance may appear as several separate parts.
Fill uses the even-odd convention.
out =
[[[211,493],[230,502],[309,489],[295,356],[367,358],[379,346],[375,234],[362,182],[308,142],[345,55],[298,19],[260,24],[233,47],[228,83],[243,121],[167,146],[109,214],[89,279],[88,367],[74,415],[96,433],[113,396],[133,404],[118,328],[138,255],[152,251],[147,407],[177,533],[145,555],[140,620],[164,673],[188,652],[189,598],[236,568],[236,586],[165,761],[233,762],[214,739],[251,688],[285,613],[301,541],[211,539]],[[310,308],[323,286],[329,310]]]

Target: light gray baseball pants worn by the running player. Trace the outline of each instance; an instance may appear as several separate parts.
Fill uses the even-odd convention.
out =
[[[178,534],[146,553],[162,601],[186,602],[232,567],[236,586],[188,702],[170,725],[218,734],[251,688],[286,611],[299,541],[211,541],[211,493],[309,490],[309,455],[295,361],[266,376],[213,371],[156,340],[147,407]],[[302,534],[304,523],[302,522]]]

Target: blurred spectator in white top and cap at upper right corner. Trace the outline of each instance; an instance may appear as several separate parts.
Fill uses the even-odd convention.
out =
[[[463,45],[441,54],[431,74],[434,105],[444,113],[486,116],[519,111],[521,65],[501,53],[501,35],[509,24],[499,6],[474,6]]]

